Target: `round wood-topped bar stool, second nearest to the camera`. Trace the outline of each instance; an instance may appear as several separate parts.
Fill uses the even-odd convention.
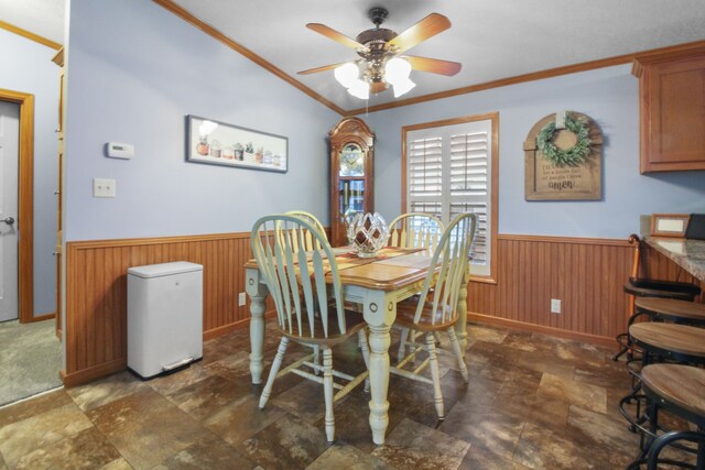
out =
[[[641,406],[649,401],[642,393],[642,371],[654,362],[705,364],[705,329],[676,324],[639,323],[629,327],[629,336],[633,347],[641,350],[641,369],[637,370],[632,367],[634,360],[627,363],[627,370],[633,378],[634,386],[619,401],[619,412],[629,422],[631,431],[641,431],[640,458],[643,458],[654,434],[643,425],[649,420],[649,414],[642,414]],[[636,416],[630,416],[626,405],[634,402]]]

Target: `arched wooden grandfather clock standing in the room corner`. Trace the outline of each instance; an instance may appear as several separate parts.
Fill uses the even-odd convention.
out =
[[[347,244],[346,220],[375,205],[375,134],[359,118],[344,118],[330,138],[330,243]]]

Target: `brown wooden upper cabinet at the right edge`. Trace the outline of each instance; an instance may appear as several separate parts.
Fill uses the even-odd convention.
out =
[[[705,46],[634,59],[641,173],[705,170]]]

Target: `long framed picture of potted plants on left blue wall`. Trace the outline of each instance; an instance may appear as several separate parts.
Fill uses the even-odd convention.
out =
[[[286,173],[289,139],[188,114],[186,161]]]

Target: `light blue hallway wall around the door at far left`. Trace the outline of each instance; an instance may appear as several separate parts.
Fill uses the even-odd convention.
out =
[[[56,309],[56,162],[58,67],[56,51],[0,30],[0,88],[34,95],[34,315]],[[21,226],[21,221],[20,221]]]

